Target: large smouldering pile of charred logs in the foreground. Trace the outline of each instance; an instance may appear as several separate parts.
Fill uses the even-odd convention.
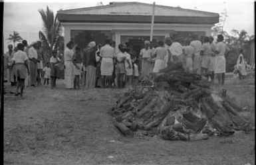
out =
[[[213,94],[201,76],[166,68],[154,81],[144,77],[124,93],[112,108],[112,117],[127,137],[143,131],[166,140],[199,140],[251,131],[238,111],[235,103]]]

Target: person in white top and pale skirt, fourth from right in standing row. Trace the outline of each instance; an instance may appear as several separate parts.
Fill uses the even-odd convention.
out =
[[[201,51],[201,41],[199,40],[197,35],[193,36],[193,41],[190,42],[190,46],[193,47],[193,72],[195,74],[200,74],[201,68],[201,58],[200,58],[200,51]]]

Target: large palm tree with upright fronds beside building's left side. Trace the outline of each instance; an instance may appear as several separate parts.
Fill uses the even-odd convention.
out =
[[[42,41],[43,49],[51,57],[52,50],[56,48],[61,36],[61,23],[48,6],[46,10],[39,9],[38,11],[43,20],[43,31],[39,31],[39,38]]]

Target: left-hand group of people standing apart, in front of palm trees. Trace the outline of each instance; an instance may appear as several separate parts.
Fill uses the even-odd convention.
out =
[[[61,60],[57,58],[57,50],[53,51],[50,61],[45,62],[41,41],[28,45],[27,40],[23,40],[15,48],[9,44],[3,59],[7,81],[17,87],[15,95],[22,96],[25,87],[41,85],[43,79],[44,84],[49,84],[51,78],[51,86],[55,87],[56,79],[59,78],[57,65]]]

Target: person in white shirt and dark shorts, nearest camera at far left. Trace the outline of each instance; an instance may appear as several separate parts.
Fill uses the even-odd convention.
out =
[[[21,96],[23,96],[23,89],[25,87],[26,74],[29,74],[28,58],[27,54],[23,52],[23,44],[18,44],[18,51],[13,54],[13,62],[16,66],[15,75],[17,77],[17,89],[15,95],[19,95],[19,88],[21,88]],[[27,72],[26,72],[27,68]]]

